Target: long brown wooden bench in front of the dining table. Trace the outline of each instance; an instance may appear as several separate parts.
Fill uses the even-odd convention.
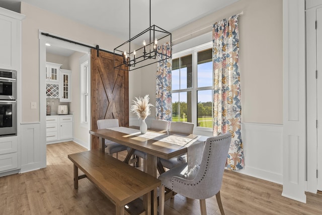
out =
[[[125,214],[124,206],[144,195],[146,214],[156,214],[156,188],[161,181],[99,150],[68,155],[74,164],[74,188],[87,177],[116,206],[116,214]],[[85,175],[78,176],[78,168]],[[151,194],[153,208],[151,208]]]

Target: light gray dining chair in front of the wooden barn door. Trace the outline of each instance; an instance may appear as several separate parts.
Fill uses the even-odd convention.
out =
[[[113,127],[119,127],[118,119],[104,119],[104,120],[97,121],[98,129],[107,129],[107,128],[113,128]],[[105,153],[109,155],[113,155],[114,153],[116,153],[116,158],[118,158],[118,153],[121,151],[125,151],[126,149],[127,147],[123,146],[122,144],[118,144],[113,141],[105,139]]]

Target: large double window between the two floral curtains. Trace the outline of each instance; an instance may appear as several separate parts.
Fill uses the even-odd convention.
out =
[[[173,54],[172,121],[212,128],[212,91],[212,43]]]

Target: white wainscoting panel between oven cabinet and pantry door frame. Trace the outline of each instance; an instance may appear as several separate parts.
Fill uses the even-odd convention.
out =
[[[40,140],[40,123],[21,124],[21,172],[46,167],[46,143]]]

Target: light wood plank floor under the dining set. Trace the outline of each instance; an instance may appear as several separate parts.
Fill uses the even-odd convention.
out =
[[[114,214],[115,206],[88,179],[73,188],[67,155],[85,151],[73,143],[47,145],[47,167],[0,177],[0,214]],[[120,158],[125,154],[121,154]],[[282,185],[225,171],[220,190],[225,214],[322,214],[322,195],[306,193],[307,203],[281,196]],[[206,200],[207,214],[220,214],[216,198]],[[165,214],[200,214],[199,200],[176,195]]]

